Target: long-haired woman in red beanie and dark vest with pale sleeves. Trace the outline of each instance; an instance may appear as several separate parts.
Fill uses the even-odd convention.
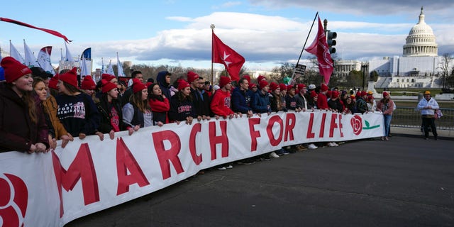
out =
[[[153,112],[148,102],[148,89],[139,79],[133,79],[133,95],[131,101],[123,106],[123,123],[129,135],[132,135],[139,128],[154,126]],[[163,123],[158,121],[157,126]]]

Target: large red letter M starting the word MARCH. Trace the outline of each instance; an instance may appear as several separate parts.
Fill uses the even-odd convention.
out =
[[[87,143],[82,143],[67,170],[62,167],[60,159],[52,151],[52,162],[57,180],[58,194],[60,194],[60,218],[63,216],[62,187],[69,192],[74,189],[79,179],[82,181],[84,204],[99,201],[98,179],[94,170],[92,153]]]

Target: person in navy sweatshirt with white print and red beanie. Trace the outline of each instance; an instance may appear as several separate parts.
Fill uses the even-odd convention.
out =
[[[98,135],[104,140],[104,134],[98,131],[100,115],[93,99],[77,86],[77,68],[60,74],[57,83],[59,95],[57,116],[73,137],[84,139],[87,135]]]

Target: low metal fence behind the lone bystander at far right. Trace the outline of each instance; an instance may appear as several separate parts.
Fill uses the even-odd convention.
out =
[[[454,109],[441,108],[443,116],[435,121],[438,129],[454,130]],[[402,128],[421,128],[421,111],[414,107],[401,107],[392,113],[391,126]]]

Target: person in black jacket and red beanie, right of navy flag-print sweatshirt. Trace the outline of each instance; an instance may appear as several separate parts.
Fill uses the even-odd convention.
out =
[[[113,140],[115,133],[124,129],[121,104],[118,101],[118,88],[116,84],[105,79],[101,79],[101,84],[102,95],[99,102],[96,103],[99,114],[101,114],[98,130],[101,133],[109,133],[109,138]]]

